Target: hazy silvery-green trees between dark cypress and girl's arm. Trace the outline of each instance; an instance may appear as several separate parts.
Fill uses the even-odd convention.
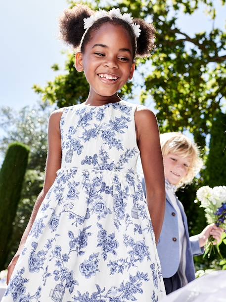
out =
[[[18,112],[9,107],[0,108],[0,129],[3,132],[0,138],[0,153],[5,153],[8,144],[16,140],[25,143],[31,150],[21,198],[13,222],[12,236],[8,242],[5,267],[18,248],[34,203],[43,187],[47,155],[47,123],[48,116],[53,109],[54,107],[50,106],[48,102],[38,102],[32,107],[26,106]]]

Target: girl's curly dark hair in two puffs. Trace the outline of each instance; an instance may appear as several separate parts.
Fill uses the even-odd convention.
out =
[[[85,32],[84,29],[84,18],[90,17],[94,13],[88,5],[77,4],[73,8],[64,11],[63,15],[60,17],[60,36],[63,41],[67,44],[72,45],[74,49],[78,49],[80,46],[80,41]],[[136,38],[135,33],[129,23],[123,19],[113,17],[103,17],[98,19],[93,23],[86,33],[82,46],[81,52],[85,51],[87,43],[91,39],[91,35],[94,31],[98,30],[100,26],[104,23],[111,23],[114,25],[123,26],[129,33],[132,42],[132,48],[134,51],[134,57],[145,58],[150,57],[152,50],[154,49],[154,38],[155,38],[155,28],[152,24],[145,22],[140,18],[133,19],[134,23],[140,26],[140,36]],[[135,53],[136,52],[136,53]]]

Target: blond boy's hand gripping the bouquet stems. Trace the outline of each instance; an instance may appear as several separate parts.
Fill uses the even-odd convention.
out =
[[[199,246],[205,246],[207,239],[212,236],[216,241],[214,244],[221,242],[222,234],[224,230],[217,227],[214,223],[205,227],[205,229],[199,234]]]

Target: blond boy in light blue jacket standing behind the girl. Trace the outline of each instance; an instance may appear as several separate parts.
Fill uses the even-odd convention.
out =
[[[157,249],[166,293],[170,294],[195,278],[193,256],[204,252],[211,235],[220,242],[223,230],[214,224],[208,225],[200,234],[189,237],[187,218],[175,191],[191,182],[200,171],[199,150],[179,132],[161,134],[160,141],[166,180],[166,210]]]

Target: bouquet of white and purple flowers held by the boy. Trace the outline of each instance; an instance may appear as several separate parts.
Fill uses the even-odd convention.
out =
[[[211,188],[205,185],[197,190],[196,196],[197,200],[201,202],[200,207],[205,208],[205,216],[208,224],[214,223],[217,227],[226,230],[226,186],[220,185]],[[205,246],[203,257],[208,255],[209,258],[215,247],[221,256],[219,246],[213,245],[214,241],[215,239],[213,237],[209,238]],[[226,243],[226,240],[224,240],[224,243]]]

